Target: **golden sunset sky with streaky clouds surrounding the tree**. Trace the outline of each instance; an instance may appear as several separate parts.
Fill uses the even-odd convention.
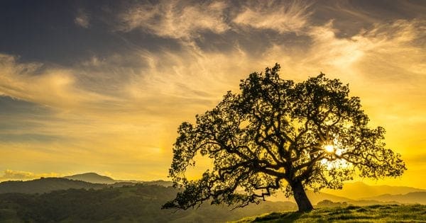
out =
[[[167,179],[178,125],[275,62],[349,83],[426,188],[425,1],[10,1],[0,6],[0,181]]]

